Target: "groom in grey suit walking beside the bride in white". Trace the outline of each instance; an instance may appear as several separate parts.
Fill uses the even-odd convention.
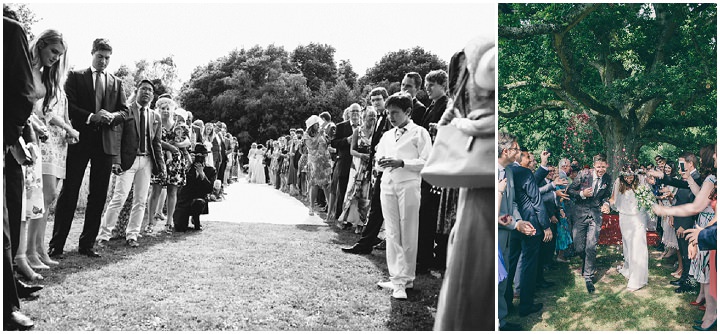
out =
[[[577,182],[568,188],[568,194],[575,203],[575,225],[573,226],[573,242],[575,251],[584,254],[582,275],[588,293],[595,292],[593,277],[595,276],[595,256],[597,241],[602,227],[601,213],[610,213],[608,198],[612,193],[610,175],[607,171],[607,158],[598,154],[593,158],[591,173],[578,175]]]

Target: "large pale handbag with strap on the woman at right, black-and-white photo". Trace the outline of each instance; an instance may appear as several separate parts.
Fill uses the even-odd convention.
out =
[[[450,108],[455,110],[460,92],[467,82],[464,70]],[[456,115],[457,116],[457,115]],[[453,125],[438,126],[430,157],[420,172],[428,183],[442,188],[495,187],[495,135],[470,136]]]

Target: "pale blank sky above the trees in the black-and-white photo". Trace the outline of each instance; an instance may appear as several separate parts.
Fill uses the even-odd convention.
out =
[[[474,36],[497,35],[497,4],[465,3],[28,3],[37,36],[59,30],[68,62],[89,67],[92,41],[108,38],[108,69],[174,56],[181,81],[234,49],[270,44],[292,52],[335,47],[360,76],[388,52],[420,46],[448,62]]]

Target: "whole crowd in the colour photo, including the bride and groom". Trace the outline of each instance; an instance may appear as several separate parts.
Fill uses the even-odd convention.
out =
[[[715,145],[703,147],[700,159],[687,152],[677,163],[657,156],[655,164],[644,167],[626,164],[612,179],[602,154],[593,158],[591,167],[567,158],[555,167],[548,163],[550,153],[542,152],[537,166],[533,153],[517,142],[513,135],[499,133],[501,330],[521,329],[506,321],[516,308],[514,298],[519,298],[521,317],[542,310],[543,304],[534,301],[535,291],[554,285],[544,273],[573,256],[582,260],[588,293],[595,293],[602,214],[611,211],[619,215],[624,261],[617,270],[627,279],[627,290],[632,293],[648,284],[647,232],[657,231],[662,241],[658,249],[664,250],[659,259],[677,258],[677,270],[671,274],[676,279],[669,281],[674,291],[694,292],[700,286],[691,305],[705,313],[693,328],[715,328]],[[643,207],[644,202],[657,203]]]

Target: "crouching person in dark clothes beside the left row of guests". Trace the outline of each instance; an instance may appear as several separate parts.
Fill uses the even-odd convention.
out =
[[[200,215],[208,213],[207,195],[213,191],[215,168],[205,164],[208,151],[204,145],[195,145],[195,160],[187,170],[185,186],[178,192],[177,206],[173,214],[175,231],[185,232],[192,217],[195,230],[202,229]]]

